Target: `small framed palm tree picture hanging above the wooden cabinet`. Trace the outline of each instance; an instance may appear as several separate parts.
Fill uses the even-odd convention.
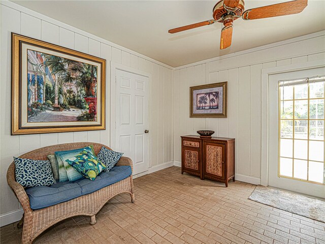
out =
[[[227,117],[227,82],[189,87],[190,117]]]

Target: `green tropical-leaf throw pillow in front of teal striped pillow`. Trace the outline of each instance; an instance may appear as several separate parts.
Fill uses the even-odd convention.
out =
[[[66,162],[84,177],[91,180],[95,180],[96,176],[106,169],[106,166],[87,150],[82,150],[80,154],[67,159]]]

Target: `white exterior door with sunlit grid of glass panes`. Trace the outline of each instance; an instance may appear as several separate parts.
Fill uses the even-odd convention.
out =
[[[325,198],[324,82],[279,86],[324,74],[317,68],[269,77],[269,186]]]

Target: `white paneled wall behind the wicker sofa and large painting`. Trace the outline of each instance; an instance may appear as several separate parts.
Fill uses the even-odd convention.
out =
[[[106,70],[106,130],[38,135],[10,135],[11,103],[11,32],[44,40],[107,60]],[[149,167],[171,162],[172,159],[172,85],[171,67],[141,54],[119,47],[13,3],[1,4],[1,215],[15,211],[19,204],[6,182],[6,172],[13,156],[43,146],[69,142],[110,141],[110,61],[152,74],[149,84]],[[114,149],[114,148],[113,148]]]

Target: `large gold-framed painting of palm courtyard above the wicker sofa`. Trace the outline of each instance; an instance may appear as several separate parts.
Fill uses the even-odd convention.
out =
[[[105,130],[106,60],[12,33],[11,134]]]

